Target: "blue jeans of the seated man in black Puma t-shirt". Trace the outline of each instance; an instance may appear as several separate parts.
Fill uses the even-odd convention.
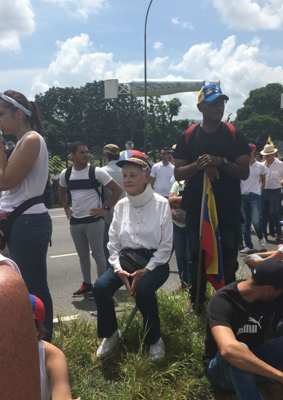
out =
[[[268,340],[251,349],[251,352],[273,368],[283,371],[283,336]],[[268,378],[234,367],[221,356],[219,351],[210,361],[207,372],[219,388],[235,390],[239,400],[262,400],[256,384]]]

